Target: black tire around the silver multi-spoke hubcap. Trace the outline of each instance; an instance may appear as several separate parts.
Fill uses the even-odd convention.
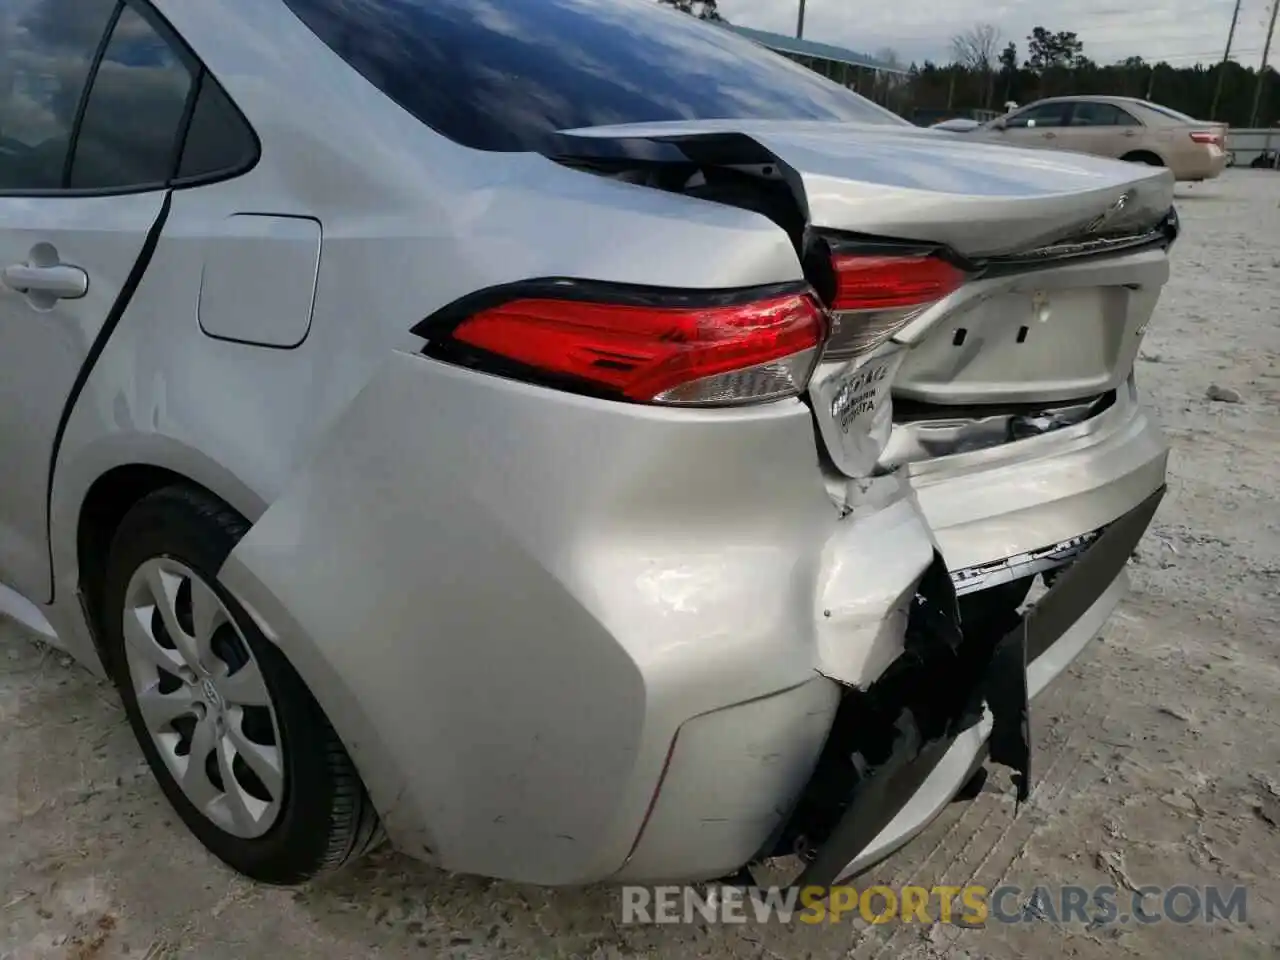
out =
[[[169,803],[210,852],[252,879],[296,884],[334,870],[381,840],[360,776],[324,712],[283,654],[218,584],[216,573],[248,529],[209,494],[169,486],[125,515],[106,564],[101,609],[109,667],[134,736]],[[131,577],[147,561],[168,557],[214,589],[252,649],[280,727],[284,799],[275,823],[252,840],[233,836],[183,794],[156,750],[138,709],[124,655],[123,622]]]

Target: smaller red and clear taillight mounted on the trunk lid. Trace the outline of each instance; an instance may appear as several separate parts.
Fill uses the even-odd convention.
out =
[[[868,353],[968,279],[937,256],[841,253],[836,273],[833,321],[824,356]]]

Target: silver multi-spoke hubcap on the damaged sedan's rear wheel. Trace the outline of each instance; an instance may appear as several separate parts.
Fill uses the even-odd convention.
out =
[[[284,799],[284,755],[253,652],[218,594],[169,558],[147,561],[124,600],[129,678],[182,792],[221,829],[252,838]]]

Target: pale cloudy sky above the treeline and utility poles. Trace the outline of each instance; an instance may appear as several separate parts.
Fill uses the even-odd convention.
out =
[[[948,59],[951,37],[992,23],[1027,59],[1032,27],[1073,29],[1098,63],[1125,56],[1183,67],[1222,58],[1235,0],[809,0],[805,37],[865,54],[892,47],[905,61]],[[799,0],[719,0],[735,23],[795,36]],[[1257,67],[1270,0],[1243,0],[1233,59]],[[1280,60],[1272,45],[1272,63]]]

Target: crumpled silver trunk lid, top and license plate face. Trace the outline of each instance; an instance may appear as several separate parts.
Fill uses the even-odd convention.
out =
[[[969,283],[874,348],[850,357],[828,343],[809,401],[850,477],[888,466],[893,397],[1061,403],[1115,388],[1167,276],[1164,251],[1120,262],[1130,238],[1153,234],[1170,214],[1174,177],[1164,168],[890,124],[698,120],[564,137],[570,155],[666,145],[703,169],[781,179],[805,224],[833,243],[941,246],[968,262]],[[1094,269],[1100,260],[1110,266]],[[837,326],[846,316],[863,321],[837,311]]]

